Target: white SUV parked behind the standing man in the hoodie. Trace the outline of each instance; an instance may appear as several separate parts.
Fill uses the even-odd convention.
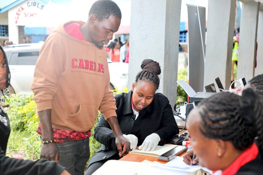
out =
[[[32,94],[30,85],[33,81],[35,65],[39,57],[39,50],[43,43],[17,44],[4,49],[11,73],[10,86],[5,89],[3,95],[8,94]],[[12,47],[13,46],[13,47]],[[118,87],[123,90],[128,86],[128,64],[116,63],[108,59],[110,72],[110,89]],[[0,92],[1,93],[1,92]]]

